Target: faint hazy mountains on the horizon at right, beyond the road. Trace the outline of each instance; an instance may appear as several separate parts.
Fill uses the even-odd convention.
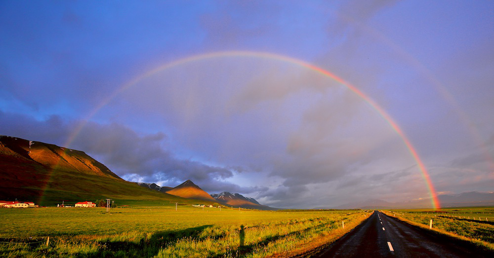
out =
[[[437,196],[441,207],[494,206],[494,192],[463,192],[459,194],[441,194]],[[368,199],[332,207],[334,209],[408,209],[432,208],[431,198],[405,202],[386,202]]]

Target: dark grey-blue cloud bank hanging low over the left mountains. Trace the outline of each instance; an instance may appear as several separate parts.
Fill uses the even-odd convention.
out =
[[[68,143],[71,133],[80,121],[65,121],[59,116],[46,120],[0,111],[0,134],[64,146],[70,144],[108,166],[121,177],[167,181],[176,186],[192,180],[208,190],[252,192],[263,187],[241,187],[224,182],[233,171],[242,167],[226,168],[206,165],[190,159],[179,159],[166,149],[164,133],[139,134],[118,123],[99,124],[88,122],[75,139]],[[29,126],[27,126],[29,125]]]

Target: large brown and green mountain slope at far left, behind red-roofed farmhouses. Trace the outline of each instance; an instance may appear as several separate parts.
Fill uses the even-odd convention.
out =
[[[0,136],[1,200],[56,205],[105,198],[195,202],[127,182],[83,151]]]

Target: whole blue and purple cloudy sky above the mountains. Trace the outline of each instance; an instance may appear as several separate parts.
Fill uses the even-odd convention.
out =
[[[0,135],[279,208],[492,191],[493,46],[494,1],[1,1]]]

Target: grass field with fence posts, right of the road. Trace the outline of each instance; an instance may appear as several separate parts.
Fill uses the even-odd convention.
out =
[[[424,228],[474,242],[494,251],[494,207],[385,211],[390,216]]]

